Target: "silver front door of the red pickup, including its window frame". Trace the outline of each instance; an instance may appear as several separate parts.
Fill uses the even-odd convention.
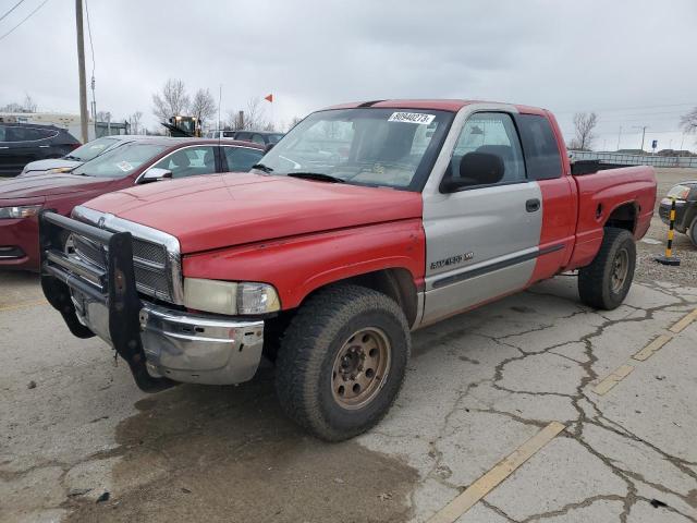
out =
[[[421,193],[427,253],[421,325],[523,289],[535,269],[542,227],[542,195],[536,182],[440,193],[462,127],[479,111],[517,109],[475,104],[453,120]],[[527,212],[528,199],[539,199],[540,208]]]

